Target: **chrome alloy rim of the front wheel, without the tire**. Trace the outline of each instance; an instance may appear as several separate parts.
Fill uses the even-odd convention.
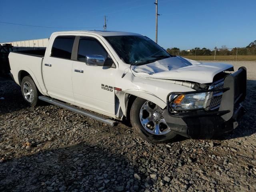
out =
[[[158,105],[146,101],[140,109],[140,122],[144,129],[154,135],[164,135],[170,132],[162,115],[163,112]]]

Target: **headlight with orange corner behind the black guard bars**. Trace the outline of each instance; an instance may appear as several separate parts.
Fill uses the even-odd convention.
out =
[[[204,102],[207,93],[196,93],[179,95],[172,102],[172,108],[174,110],[193,110],[204,108]]]

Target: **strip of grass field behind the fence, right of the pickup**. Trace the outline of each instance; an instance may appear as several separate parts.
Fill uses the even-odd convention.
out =
[[[192,60],[214,60],[214,56],[182,56]],[[256,61],[256,55],[238,55],[237,59],[235,55],[220,55],[216,56],[215,60],[229,60],[229,61]]]

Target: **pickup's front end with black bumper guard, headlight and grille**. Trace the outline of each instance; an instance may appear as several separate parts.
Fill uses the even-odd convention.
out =
[[[172,131],[189,138],[208,139],[230,132],[238,126],[238,120],[246,112],[241,104],[246,97],[245,67],[226,75],[207,89],[194,89],[196,91],[168,94],[167,108],[163,115]],[[191,99],[189,96],[200,94],[206,97],[203,106],[200,102],[193,108],[186,103],[178,103],[186,97]]]

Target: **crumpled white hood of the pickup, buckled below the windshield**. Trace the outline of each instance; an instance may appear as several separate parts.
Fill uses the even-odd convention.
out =
[[[211,83],[214,76],[224,70],[232,71],[233,66],[224,63],[200,63],[180,56],[141,66],[132,66],[135,76],[198,83]]]

